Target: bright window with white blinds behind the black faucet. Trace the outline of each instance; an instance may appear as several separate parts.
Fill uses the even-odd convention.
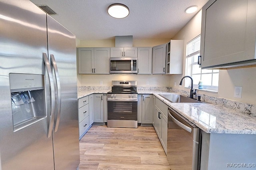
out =
[[[197,64],[198,55],[200,55],[200,38],[201,36],[198,36],[187,43],[186,75],[193,78],[195,88],[198,88],[198,83],[201,80],[203,89],[218,91],[219,70],[201,69]],[[191,87],[190,79],[185,80],[185,87]]]

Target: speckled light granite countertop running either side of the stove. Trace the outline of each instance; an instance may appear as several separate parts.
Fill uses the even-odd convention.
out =
[[[78,91],[78,99],[101,91]],[[153,94],[169,107],[207,133],[256,134],[256,117],[210,103],[171,103],[159,94],[177,94],[166,91],[138,91]]]

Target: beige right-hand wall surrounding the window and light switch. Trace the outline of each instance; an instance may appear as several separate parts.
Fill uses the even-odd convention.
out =
[[[198,12],[198,14],[196,14],[194,18],[192,18],[192,20],[190,20],[190,22],[188,22],[188,24],[186,24],[186,26],[172,38],[172,40],[185,40],[184,47],[186,49],[186,43],[198,36],[201,32],[201,15],[202,12]],[[184,63],[186,63],[185,56],[186,50],[184,50]],[[180,82],[182,76],[185,75],[185,64],[183,70],[183,75],[173,75],[170,78],[170,87],[174,87],[174,82],[177,82],[176,88],[189,91],[189,89],[185,89],[184,86],[178,86],[178,82]],[[255,75],[256,67],[220,70],[218,93],[207,93],[204,91],[200,91],[200,93],[244,103],[256,104]],[[241,99],[234,97],[234,86],[242,86]]]

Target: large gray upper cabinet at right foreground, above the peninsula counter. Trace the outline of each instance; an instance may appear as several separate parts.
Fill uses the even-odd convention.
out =
[[[255,65],[256,1],[210,0],[202,8],[201,67]]]

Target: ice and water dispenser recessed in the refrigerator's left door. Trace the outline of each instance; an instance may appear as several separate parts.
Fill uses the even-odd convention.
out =
[[[14,131],[46,117],[44,75],[10,73]]]

